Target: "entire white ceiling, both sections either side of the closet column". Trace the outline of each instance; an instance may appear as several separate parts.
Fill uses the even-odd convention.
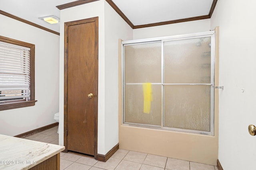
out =
[[[39,17],[60,18],[58,5],[76,0],[0,0],[0,10],[60,32],[60,24],[50,24]],[[112,0],[133,25],[144,25],[208,15],[213,0]]]

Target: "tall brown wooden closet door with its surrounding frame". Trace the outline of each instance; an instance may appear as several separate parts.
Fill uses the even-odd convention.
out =
[[[98,17],[65,23],[65,51],[64,145],[96,156]]]

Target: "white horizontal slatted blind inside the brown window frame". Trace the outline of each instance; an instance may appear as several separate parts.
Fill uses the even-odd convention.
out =
[[[0,41],[0,101],[30,98],[30,48]]]

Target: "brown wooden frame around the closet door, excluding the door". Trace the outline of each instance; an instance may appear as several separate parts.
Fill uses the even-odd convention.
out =
[[[68,152],[68,26],[82,23],[95,22],[95,79],[94,79],[94,158],[97,159],[98,152],[98,17],[87,18],[64,23],[64,152]]]

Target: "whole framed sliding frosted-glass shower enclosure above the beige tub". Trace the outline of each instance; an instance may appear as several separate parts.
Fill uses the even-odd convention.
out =
[[[214,31],[123,41],[123,125],[214,135],[214,44]]]

